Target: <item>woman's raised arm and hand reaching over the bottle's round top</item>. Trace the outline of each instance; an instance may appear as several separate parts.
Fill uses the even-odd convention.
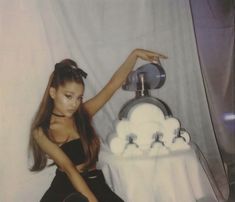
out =
[[[93,98],[84,103],[87,112],[93,116],[103,105],[112,97],[115,91],[121,87],[126,80],[128,74],[134,68],[137,59],[140,58],[146,61],[156,61],[160,58],[166,59],[165,55],[144,49],[135,49],[127,57],[125,62],[113,74],[110,81],[105,87]]]

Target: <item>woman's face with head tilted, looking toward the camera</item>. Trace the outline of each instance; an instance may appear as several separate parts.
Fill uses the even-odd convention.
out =
[[[67,82],[57,89],[50,88],[50,96],[54,100],[53,112],[72,117],[82,102],[84,86],[76,82]]]

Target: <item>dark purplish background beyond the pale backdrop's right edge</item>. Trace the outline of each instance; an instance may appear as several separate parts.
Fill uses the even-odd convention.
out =
[[[191,0],[202,76],[226,162],[235,159],[234,1]]]

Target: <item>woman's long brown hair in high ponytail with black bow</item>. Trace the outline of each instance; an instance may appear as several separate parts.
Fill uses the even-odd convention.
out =
[[[55,65],[55,70],[50,76],[43,99],[31,124],[29,151],[32,151],[34,160],[33,165],[30,168],[31,171],[40,171],[47,165],[47,155],[35,141],[33,132],[38,128],[42,128],[44,134],[50,139],[50,119],[54,107],[53,100],[49,95],[50,87],[58,89],[59,86],[71,81],[84,86],[83,78],[86,78],[86,76],[87,74],[82,69],[78,68],[76,62],[71,59],[62,60]],[[74,113],[74,120],[86,155],[84,169],[87,169],[90,166],[93,166],[98,158],[100,141],[92,126],[91,117],[84,109],[82,103]]]

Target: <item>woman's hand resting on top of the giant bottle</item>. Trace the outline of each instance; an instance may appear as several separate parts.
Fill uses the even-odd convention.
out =
[[[132,54],[134,54],[137,58],[140,58],[142,60],[147,60],[150,62],[154,62],[154,61],[158,61],[159,59],[167,59],[167,56],[160,54],[160,53],[156,53],[153,51],[149,51],[149,50],[144,50],[144,49],[135,49],[132,51]]]

